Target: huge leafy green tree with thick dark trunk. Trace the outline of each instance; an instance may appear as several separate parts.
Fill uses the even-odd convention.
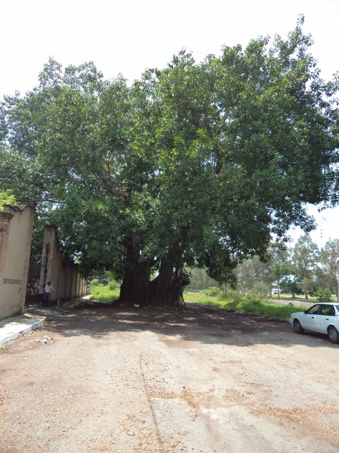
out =
[[[304,203],[336,202],[337,86],[301,22],[132,86],[51,59],[1,105],[0,188],[40,200],[85,273],[121,277],[121,301],[181,302],[187,265],[227,281],[272,234],[314,226]]]

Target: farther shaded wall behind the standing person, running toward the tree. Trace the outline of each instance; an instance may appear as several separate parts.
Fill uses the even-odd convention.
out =
[[[52,301],[76,299],[89,293],[85,279],[78,271],[78,265],[62,256],[57,231],[54,226],[44,227],[42,248],[40,293],[47,282],[54,287]]]

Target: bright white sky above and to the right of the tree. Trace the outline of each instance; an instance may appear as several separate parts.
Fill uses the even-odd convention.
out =
[[[1,1],[0,96],[32,88],[49,56],[64,66],[93,60],[107,79],[121,73],[132,81],[147,67],[165,67],[183,47],[200,61],[222,45],[286,36],[300,13],[329,79],[339,70],[339,0]],[[316,218],[311,236],[319,245],[339,237],[339,208]]]

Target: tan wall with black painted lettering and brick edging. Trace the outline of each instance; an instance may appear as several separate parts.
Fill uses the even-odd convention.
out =
[[[0,212],[0,319],[24,310],[33,211],[34,203],[25,201]]]

